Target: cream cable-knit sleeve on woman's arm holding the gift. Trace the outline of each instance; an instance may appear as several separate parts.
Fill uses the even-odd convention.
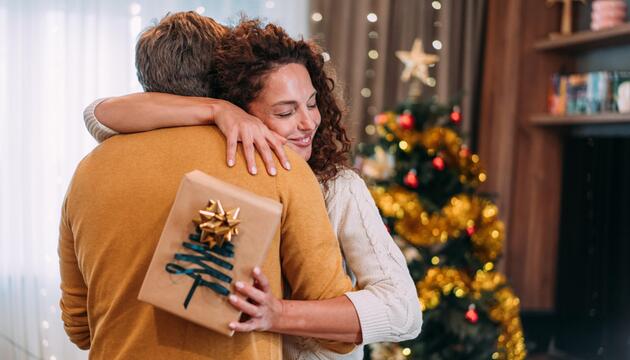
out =
[[[422,312],[415,284],[365,182],[348,170],[331,190],[329,217],[361,289],[346,296],[359,315],[363,343],[417,337]]]

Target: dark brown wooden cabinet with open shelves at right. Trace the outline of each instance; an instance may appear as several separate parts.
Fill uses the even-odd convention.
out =
[[[589,9],[578,11],[584,27]],[[567,130],[630,128],[630,114],[546,114],[552,74],[630,67],[630,24],[550,39],[559,28],[543,0],[488,2],[478,151],[507,225],[502,267],[528,310],[554,308]]]

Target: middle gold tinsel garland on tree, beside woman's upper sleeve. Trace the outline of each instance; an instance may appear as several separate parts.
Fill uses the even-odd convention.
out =
[[[432,246],[474,229],[471,240],[481,262],[494,261],[502,251],[504,225],[497,206],[490,201],[460,194],[453,196],[439,212],[429,214],[418,196],[400,186],[372,187],[381,213],[396,218],[396,233],[416,246]]]

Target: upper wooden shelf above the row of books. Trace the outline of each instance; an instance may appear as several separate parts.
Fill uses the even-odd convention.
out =
[[[534,43],[540,51],[585,51],[596,48],[630,44],[630,23],[598,31],[580,31],[571,35],[544,39]]]

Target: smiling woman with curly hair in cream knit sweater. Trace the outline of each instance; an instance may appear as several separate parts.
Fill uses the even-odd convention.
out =
[[[414,283],[365,183],[343,165],[349,141],[341,126],[334,83],[316,47],[291,39],[278,26],[263,28],[258,21],[243,21],[225,36],[214,56],[209,80],[216,87],[215,97],[224,101],[158,93],[128,95],[100,105],[96,101],[85,112],[88,129],[93,134],[115,134],[214,123],[228,140],[228,163],[233,165],[240,140],[253,173],[254,147],[270,174],[277,171],[270,147],[290,167],[283,161],[281,144],[286,143],[308,161],[320,180],[347,271],[361,290],[331,300],[281,300],[271,295],[266,278],[255,270],[256,286],[237,283],[241,297],[230,297],[232,305],[251,319],[230,326],[236,331],[292,335],[284,342],[285,356],[290,359],[362,358],[362,347],[339,355],[322,349],[311,338],[361,344],[415,338],[422,314]],[[129,125],[137,114],[145,122]],[[288,307],[300,316],[286,318]]]

